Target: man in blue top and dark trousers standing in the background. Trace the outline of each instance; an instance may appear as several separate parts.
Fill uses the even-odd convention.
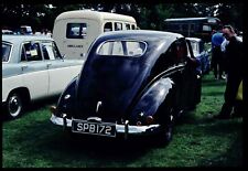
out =
[[[212,35],[212,68],[214,70],[215,79],[222,79],[223,76],[223,54],[220,46],[224,40],[220,29]]]

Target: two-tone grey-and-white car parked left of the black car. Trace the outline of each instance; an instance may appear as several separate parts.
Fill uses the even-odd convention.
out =
[[[53,39],[2,35],[2,107],[17,118],[30,101],[60,95],[83,60],[65,60]]]

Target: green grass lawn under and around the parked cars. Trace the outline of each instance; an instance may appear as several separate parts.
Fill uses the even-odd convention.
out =
[[[165,147],[151,138],[130,141],[72,139],[50,121],[47,101],[2,124],[3,168],[242,167],[242,119],[213,120],[223,105],[225,81],[203,77],[202,101],[183,115]]]

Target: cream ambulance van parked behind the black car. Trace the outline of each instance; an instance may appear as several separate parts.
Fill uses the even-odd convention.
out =
[[[91,10],[61,13],[54,22],[53,39],[62,55],[86,60],[93,41],[107,31],[136,30],[134,18],[123,14]]]

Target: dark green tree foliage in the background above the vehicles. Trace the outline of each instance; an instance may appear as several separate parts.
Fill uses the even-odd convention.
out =
[[[100,3],[82,2],[66,4],[54,2],[48,4],[2,3],[2,26],[17,29],[28,24],[34,30],[53,29],[55,18],[65,11],[94,9],[132,15],[141,29],[163,30],[163,21],[168,18],[217,17],[225,24],[233,24],[242,30],[242,3]]]

